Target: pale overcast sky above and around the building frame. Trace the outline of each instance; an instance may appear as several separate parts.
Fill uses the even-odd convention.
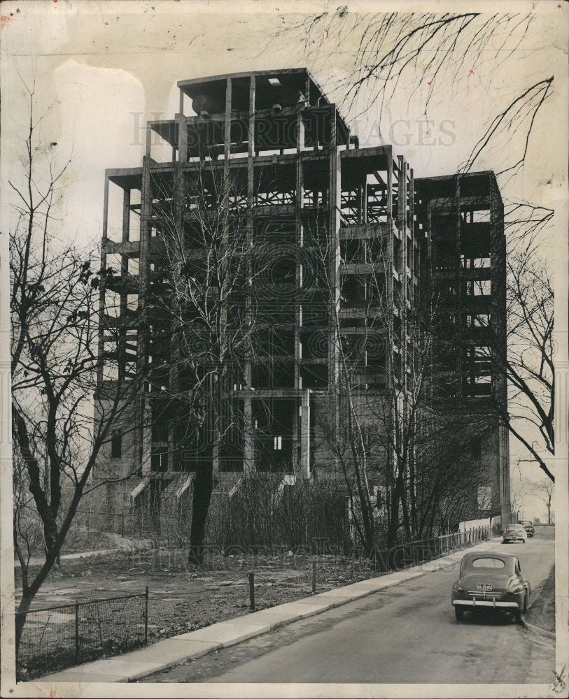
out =
[[[458,11],[461,4],[453,2],[452,10]],[[378,4],[368,3],[367,7],[377,11]],[[402,3],[395,6],[401,7]],[[473,3],[468,3],[468,9],[472,7]],[[505,183],[502,194],[506,201],[524,198],[559,206],[566,186],[560,130],[566,129],[566,36],[562,32],[567,13],[557,7],[557,3],[538,3],[539,11],[514,59],[498,66],[495,55],[483,52],[479,62],[459,80],[439,82],[427,115],[428,80],[412,96],[409,84],[400,85],[397,99],[381,122],[377,104],[370,104],[356,121],[356,113],[365,105],[360,101],[355,108],[344,109],[353,133],[360,135],[360,145],[395,141],[395,149],[410,161],[416,177],[452,173],[502,106],[536,80],[557,73],[563,85],[556,77],[555,92],[535,120],[524,173]],[[381,8],[388,9],[389,3],[382,3]],[[434,11],[441,8],[440,2],[430,3]],[[505,3],[482,6],[493,12],[498,8],[505,8]],[[518,1],[516,8],[523,12],[531,5]],[[335,9],[335,5],[330,6],[332,13]],[[278,29],[302,18],[300,3],[3,2],[3,176],[17,178],[27,119],[17,73],[28,84],[35,73],[38,108],[45,111],[50,107],[41,123],[42,136],[47,143],[57,143],[59,158],[73,152],[66,180],[69,190],[59,212],[60,235],[99,240],[104,170],[140,164],[143,124],[147,118],[174,116],[178,110],[177,80],[307,66],[321,86],[341,101],[342,81],[353,66],[360,38],[356,10],[363,9],[363,4],[350,4],[352,31],[339,47],[335,34],[327,36],[325,23],[321,35],[313,35],[314,43],[308,46],[294,34],[274,36]],[[358,21],[354,22],[354,17]],[[363,26],[363,17],[361,22]],[[505,50],[511,48],[513,45],[506,44]],[[521,133],[506,134],[484,152],[476,169],[499,171],[512,164],[523,149],[524,138]],[[514,482],[520,452],[513,443],[511,447]],[[524,468],[524,474],[527,472]],[[542,516],[544,512],[538,501],[528,501],[526,514]]]

